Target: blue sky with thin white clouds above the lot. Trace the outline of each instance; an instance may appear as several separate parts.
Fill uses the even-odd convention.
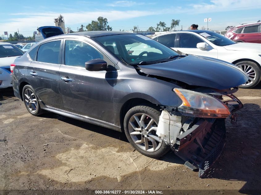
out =
[[[2,6],[5,5],[5,6]],[[156,27],[160,21],[170,27],[171,19],[180,19],[176,30],[187,30],[192,24],[211,30],[225,30],[226,26],[238,26],[261,20],[261,0],[63,0],[18,1],[1,0],[0,35],[4,31],[32,36],[40,26],[54,26],[54,18],[62,15],[65,27],[76,31],[99,16],[108,19],[113,30],[139,30]]]

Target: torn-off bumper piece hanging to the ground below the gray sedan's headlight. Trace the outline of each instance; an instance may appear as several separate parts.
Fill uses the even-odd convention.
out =
[[[202,119],[178,136],[172,149],[187,168],[199,169],[199,177],[204,177],[225,146],[225,132],[224,119],[216,119],[213,124]]]

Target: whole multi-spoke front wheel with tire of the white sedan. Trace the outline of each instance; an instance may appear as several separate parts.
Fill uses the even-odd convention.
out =
[[[251,61],[241,61],[235,65],[249,76],[249,79],[246,81],[246,83],[239,86],[240,88],[252,88],[260,82],[260,68],[256,63]]]

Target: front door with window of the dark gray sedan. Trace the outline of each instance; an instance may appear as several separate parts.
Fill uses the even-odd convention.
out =
[[[99,49],[78,39],[65,39],[60,88],[65,111],[114,124],[113,82],[116,71],[87,71],[85,62],[104,59],[115,65]]]

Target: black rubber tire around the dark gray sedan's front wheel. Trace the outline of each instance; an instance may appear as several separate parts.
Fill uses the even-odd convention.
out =
[[[135,148],[138,152],[140,152],[141,154],[143,154],[145,156],[148,156],[151,158],[159,158],[159,157],[165,155],[170,150],[170,146],[168,146],[164,141],[162,141],[160,148],[158,148],[156,151],[147,152],[147,151],[139,148],[137,146],[137,144],[135,144],[134,141],[132,140],[132,138],[130,136],[129,128],[128,128],[129,121],[133,115],[138,114],[138,113],[144,113],[144,114],[148,115],[150,118],[154,119],[154,121],[157,124],[159,122],[159,117],[161,114],[158,110],[151,108],[149,106],[145,106],[145,105],[139,105],[139,106],[135,106],[135,107],[131,108],[126,113],[125,118],[124,118],[124,132],[126,134],[128,141],[130,142],[130,144],[132,144],[133,148]]]

